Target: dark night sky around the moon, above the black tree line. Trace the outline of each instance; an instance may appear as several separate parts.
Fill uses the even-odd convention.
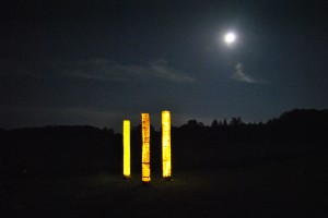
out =
[[[328,108],[328,1],[1,1],[0,128]],[[229,47],[223,35],[234,31]]]

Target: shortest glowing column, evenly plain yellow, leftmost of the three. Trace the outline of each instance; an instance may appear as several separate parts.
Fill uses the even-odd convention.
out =
[[[124,120],[124,177],[131,177],[130,121]]]

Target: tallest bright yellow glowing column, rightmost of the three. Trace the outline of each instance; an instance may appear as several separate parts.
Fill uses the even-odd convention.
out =
[[[171,113],[162,111],[162,161],[163,178],[171,179]]]

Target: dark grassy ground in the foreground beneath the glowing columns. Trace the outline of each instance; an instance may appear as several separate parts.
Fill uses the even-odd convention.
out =
[[[328,158],[153,174],[21,178],[1,186],[1,217],[328,217]]]

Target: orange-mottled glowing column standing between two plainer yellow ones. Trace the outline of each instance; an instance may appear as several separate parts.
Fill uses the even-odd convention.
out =
[[[148,184],[150,177],[150,119],[149,113],[141,113],[142,134],[142,183]]]

